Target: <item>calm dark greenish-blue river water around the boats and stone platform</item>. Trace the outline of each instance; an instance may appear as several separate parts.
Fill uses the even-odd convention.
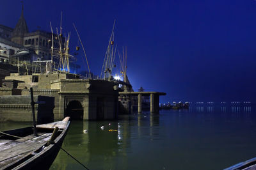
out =
[[[191,106],[72,121],[62,147],[89,169],[223,169],[256,157],[256,107]],[[60,150],[51,169],[83,167]]]

